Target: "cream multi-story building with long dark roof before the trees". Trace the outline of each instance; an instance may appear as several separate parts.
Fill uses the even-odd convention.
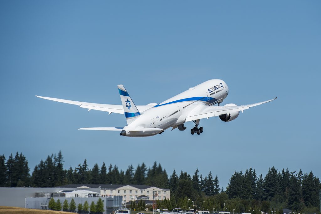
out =
[[[137,197],[144,195],[146,200],[155,200],[154,192],[157,193],[156,200],[170,199],[170,190],[155,186],[135,184],[68,184],[62,187],[69,188],[100,188],[101,196],[123,196],[123,203],[135,201]],[[148,197],[148,199],[147,199]]]

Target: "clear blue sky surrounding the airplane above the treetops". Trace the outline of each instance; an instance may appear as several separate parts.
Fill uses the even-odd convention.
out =
[[[235,170],[257,174],[320,167],[320,1],[1,1],[0,154],[22,152],[30,169],[62,150],[65,167],[160,162],[209,171],[226,187]],[[204,133],[148,138],[82,127],[124,126],[124,115],[87,111],[35,95],[121,104],[160,103],[221,78],[223,104],[272,103],[231,122],[201,120]]]

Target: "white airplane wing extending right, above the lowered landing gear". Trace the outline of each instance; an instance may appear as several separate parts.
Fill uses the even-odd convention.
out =
[[[209,118],[209,117],[216,117],[221,114],[226,114],[226,113],[231,113],[235,111],[242,111],[249,109],[250,107],[254,107],[257,105],[261,105],[263,103],[268,103],[273,100],[275,100],[277,97],[275,97],[272,100],[267,100],[264,102],[260,103],[254,103],[254,104],[249,104],[249,105],[240,105],[240,106],[199,106],[196,107],[193,111],[191,111],[187,116],[186,116],[186,122],[187,121],[192,121],[192,120],[198,120],[202,118]]]

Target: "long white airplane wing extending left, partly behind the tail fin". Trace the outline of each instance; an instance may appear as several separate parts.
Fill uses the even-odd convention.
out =
[[[74,104],[78,105],[80,108],[85,108],[90,111],[91,109],[93,110],[98,110],[98,111],[108,111],[110,113],[118,113],[118,114],[124,114],[124,108],[122,105],[111,105],[111,104],[100,104],[100,103],[86,103],[86,102],[79,102],[79,101],[72,101],[72,100],[63,100],[63,99],[58,99],[58,98],[52,98],[52,97],[41,97],[37,96],[42,99],[46,100],[52,100],[60,103],[68,103],[68,104]],[[152,108],[152,105],[137,105],[136,106],[138,111],[143,112],[146,111],[147,109]]]

